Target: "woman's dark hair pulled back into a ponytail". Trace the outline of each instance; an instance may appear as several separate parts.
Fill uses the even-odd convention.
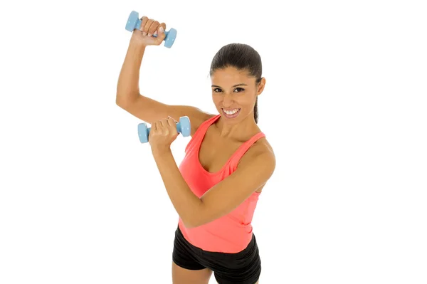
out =
[[[256,83],[260,83],[263,73],[261,57],[255,49],[245,43],[229,43],[223,46],[215,54],[211,63],[210,75],[217,69],[235,67],[239,70],[248,70],[255,77]],[[253,108],[255,123],[258,123],[258,97]]]

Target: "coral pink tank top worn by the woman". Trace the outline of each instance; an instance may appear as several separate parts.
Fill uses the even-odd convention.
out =
[[[261,137],[265,137],[263,132],[258,132],[233,153],[220,171],[208,172],[199,162],[199,149],[209,126],[216,122],[219,117],[221,115],[211,117],[199,126],[189,144],[187,144],[185,157],[179,165],[179,170],[186,183],[198,197],[201,197],[212,186],[232,174],[249,147]],[[204,251],[221,253],[242,251],[248,246],[252,238],[251,222],[259,195],[260,193],[255,191],[229,214],[202,226],[186,228],[181,218],[179,218],[179,228],[189,243]]]

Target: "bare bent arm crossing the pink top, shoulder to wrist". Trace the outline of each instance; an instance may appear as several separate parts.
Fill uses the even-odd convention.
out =
[[[201,226],[224,216],[260,189],[275,170],[275,154],[268,147],[254,146],[243,155],[236,172],[223,179],[199,199],[179,172],[172,152],[154,154],[169,198],[187,228]]]

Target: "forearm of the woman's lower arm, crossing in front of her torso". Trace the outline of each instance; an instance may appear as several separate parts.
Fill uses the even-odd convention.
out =
[[[194,226],[201,210],[201,199],[186,184],[171,151],[154,154],[154,159],[176,212],[186,226]]]

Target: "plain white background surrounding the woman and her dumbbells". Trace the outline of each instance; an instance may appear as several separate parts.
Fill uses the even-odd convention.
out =
[[[178,31],[147,48],[151,98],[215,112],[216,51],[263,58],[278,162],[253,220],[260,284],[427,283],[422,4],[2,1],[0,283],[172,283],[178,216],[115,105],[132,10]]]

